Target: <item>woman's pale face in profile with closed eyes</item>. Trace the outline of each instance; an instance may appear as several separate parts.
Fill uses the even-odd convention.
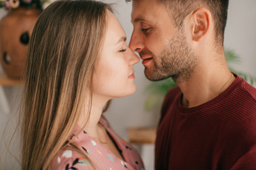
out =
[[[93,93],[105,98],[119,98],[135,92],[133,65],[140,59],[126,45],[126,33],[116,16],[107,11],[106,37],[93,81]]]

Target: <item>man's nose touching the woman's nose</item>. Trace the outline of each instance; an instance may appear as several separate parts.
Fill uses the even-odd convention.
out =
[[[133,30],[132,36],[130,38],[129,47],[131,50],[133,50],[133,52],[140,52],[141,50],[143,50],[143,36]]]

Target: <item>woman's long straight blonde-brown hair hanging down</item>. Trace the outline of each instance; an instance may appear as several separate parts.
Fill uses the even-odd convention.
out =
[[[56,1],[38,18],[26,61],[22,169],[47,169],[82,116],[106,34],[99,1]]]

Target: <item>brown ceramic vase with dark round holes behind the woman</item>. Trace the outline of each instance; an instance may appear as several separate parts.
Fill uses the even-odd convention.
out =
[[[38,8],[16,8],[0,21],[0,61],[7,77],[21,79]]]

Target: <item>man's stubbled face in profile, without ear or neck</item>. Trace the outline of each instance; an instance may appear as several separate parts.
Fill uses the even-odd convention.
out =
[[[165,6],[157,0],[135,0],[131,17],[130,48],[143,60],[145,76],[152,81],[189,79],[196,57],[187,44],[184,27],[175,27]]]

